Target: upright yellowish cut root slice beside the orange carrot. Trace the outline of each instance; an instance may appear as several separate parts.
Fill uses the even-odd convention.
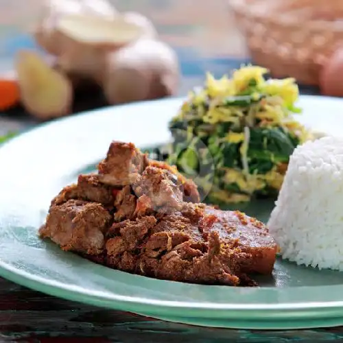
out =
[[[51,69],[34,51],[16,56],[16,72],[21,102],[40,119],[61,117],[71,112],[73,89],[70,80]]]

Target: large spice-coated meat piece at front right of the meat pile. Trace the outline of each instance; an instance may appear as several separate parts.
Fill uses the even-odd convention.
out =
[[[277,249],[261,222],[203,204],[114,224],[109,233],[110,267],[189,283],[255,285],[247,274],[270,274]]]

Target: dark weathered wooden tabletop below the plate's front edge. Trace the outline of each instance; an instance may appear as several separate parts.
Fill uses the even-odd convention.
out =
[[[0,279],[0,342],[341,342],[343,329],[296,331],[191,327],[71,303]]]

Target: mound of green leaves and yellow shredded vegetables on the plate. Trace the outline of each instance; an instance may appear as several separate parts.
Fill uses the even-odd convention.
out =
[[[252,196],[275,196],[294,148],[311,133],[294,117],[298,86],[294,79],[265,80],[267,69],[241,67],[231,78],[206,75],[204,87],[191,91],[169,128],[174,142],[169,163],[190,177],[211,156],[213,187],[209,201],[248,202]],[[198,142],[209,156],[200,156]],[[186,148],[185,148],[186,147]],[[206,160],[207,159],[207,160]]]

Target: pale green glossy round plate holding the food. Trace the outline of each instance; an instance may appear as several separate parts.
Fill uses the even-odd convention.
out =
[[[54,121],[0,149],[0,275],[82,303],[210,327],[295,329],[343,324],[343,273],[279,259],[261,287],[191,285],[110,270],[37,237],[49,202],[78,174],[93,169],[112,139],[140,147],[168,141],[167,123],[181,99],[105,108]],[[341,134],[343,102],[302,97],[300,117]],[[272,203],[250,204],[263,220]]]

